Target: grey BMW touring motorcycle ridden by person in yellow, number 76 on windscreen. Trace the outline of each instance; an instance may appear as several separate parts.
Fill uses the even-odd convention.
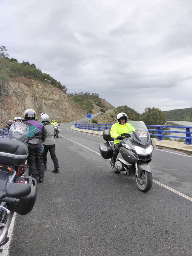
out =
[[[142,192],[151,189],[153,178],[151,167],[148,163],[152,159],[152,151],[155,141],[149,136],[148,129],[143,121],[129,121],[135,128],[130,134],[121,134],[123,139],[118,145],[119,153],[113,167],[114,138],[110,136],[110,129],[103,131],[103,139],[106,143],[99,146],[100,154],[104,159],[111,158],[111,167],[115,173],[121,173],[128,177],[135,177],[136,184]]]

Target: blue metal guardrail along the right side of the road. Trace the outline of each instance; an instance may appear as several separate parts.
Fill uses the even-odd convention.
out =
[[[79,129],[87,129],[87,130],[93,130],[93,131],[102,131],[102,130],[107,130],[110,129],[113,124],[78,124],[75,123],[74,126]],[[177,139],[185,139],[185,144],[191,145],[192,144],[192,132],[190,129],[192,126],[170,126],[170,125],[146,125],[148,128],[148,131],[155,131],[157,132],[156,134],[154,133],[149,133],[150,135],[157,136],[157,140],[164,140],[164,137],[172,137],[172,138],[177,138]],[[154,128],[156,127],[157,129],[150,129],[150,127]],[[166,128],[185,128],[186,131],[171,131],[171,130],[162,130],[161,128],[166,127]],[[182,133],[185,134],[185,137],[181,136],[173,136],[173,135],[164,135],[163,132],[169,132],[169,133]]]

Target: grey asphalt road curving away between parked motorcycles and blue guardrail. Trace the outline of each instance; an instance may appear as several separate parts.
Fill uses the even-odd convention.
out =
[[[60,126],[33,210],[16,215],[9,255],[192,255],[192,202],[153,183],[142,193],[134,178],[115,174],[99,154],[99,135]],[[192,157],[155,149],[153,179],[192,198]]]

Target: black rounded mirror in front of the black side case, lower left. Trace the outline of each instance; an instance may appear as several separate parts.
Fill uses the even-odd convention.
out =
[[[31,186],[23,183],[8,183],[5,187],[6,196],[17,198],[24,197],[31,193]]]

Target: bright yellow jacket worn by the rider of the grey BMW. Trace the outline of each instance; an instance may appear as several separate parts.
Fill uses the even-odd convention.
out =
[[[111,137],[116,138],[117,136],[121,136],[122,133],[131,133],[132,131],[135,131],[135,128],[129,124],[125,123],[124,125],[115,123],[111,126]],[[115,140],[114,144],[119,143],[121,140]]]

